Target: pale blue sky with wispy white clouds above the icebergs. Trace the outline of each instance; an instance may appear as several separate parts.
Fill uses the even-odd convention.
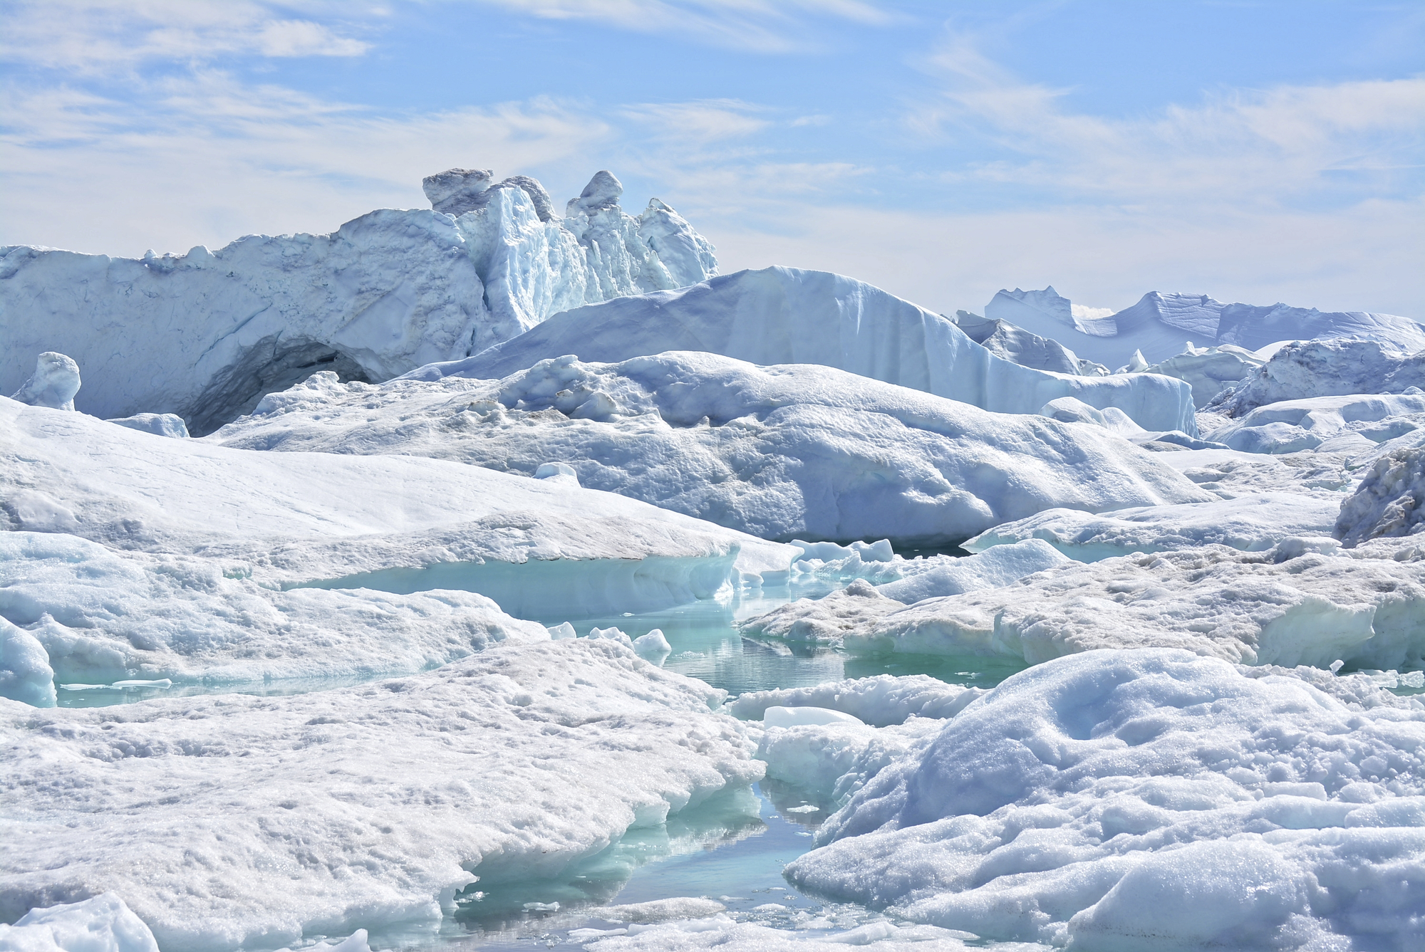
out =
[[[328,232],[452,167],[942,312],[1425,319],[1425,3],[0,0],[0,244]]]

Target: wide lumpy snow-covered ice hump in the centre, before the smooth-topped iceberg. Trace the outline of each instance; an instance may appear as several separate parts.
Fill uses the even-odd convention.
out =
[[[319,375],[208,439],[533,475],[560,460],[581,486],[765,539],[940,544],[1052,506],[1208,499],[1160,455],[1099,429],[704,352],[611,365],[566,356],[503,381],[378,388]]]

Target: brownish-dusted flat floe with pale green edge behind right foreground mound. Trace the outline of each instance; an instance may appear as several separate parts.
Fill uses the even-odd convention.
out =
[[[912,606],[864,597],[852,607],[828,596],[804,613],[859,653],[1037,664],[1093,648],[1177,647],[1243,664],[1425,667],[1425,549],[1359,552],[1341,553],[1334,539],[1285,540],[1264,553],[1203,546],[1069,563]],[[792,609],[744,628],[785,626]]]

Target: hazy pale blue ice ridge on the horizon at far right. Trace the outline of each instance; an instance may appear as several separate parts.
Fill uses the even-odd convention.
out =
[[[1076,315],[1069,299],[1053,286],[1043,291],[1016,288],[996,294],[985,305],[985,316],[1059,341],[1076,355],[1110,368],[1130,363],[1134,351],[1147,363],[1166,361],[1181,353],[1190,341],[1257,351],[1278,341],[1362,338],[1394,351],[1425,349],[1425,325],[1411,318],[1365,311],[1321,312],[1284,304],[1223,304],[1206,294],[1150,291],[1131,308],[1113,315],[1087,311]]]

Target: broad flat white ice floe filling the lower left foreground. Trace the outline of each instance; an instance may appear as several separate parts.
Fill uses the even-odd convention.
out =
[[[761,777],[721,698],[570,638],[296,697],[0,701],[0,918],[113,889],[195,952],[439,922]]]

